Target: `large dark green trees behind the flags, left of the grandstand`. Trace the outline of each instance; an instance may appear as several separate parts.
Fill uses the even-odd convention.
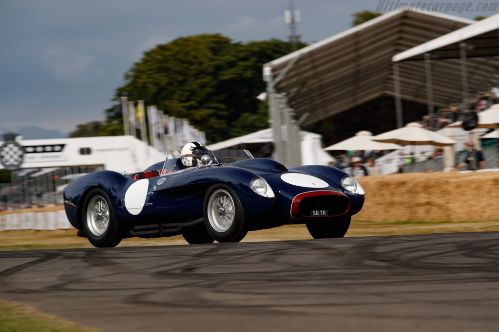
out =
[[[256,99],[265,90],[262,65],[290,50],[289,42],[278,39],[243,44],[220,34],[179,38],[145,52],[125,74],[114,100],[144,100],[165,114],[187,118],[206,132],[207,143],[268,128],[266,103]],[[122,135],[123,120],[112,117],[113,110],[105,110],[100,127],[78,125],[71,137]]]

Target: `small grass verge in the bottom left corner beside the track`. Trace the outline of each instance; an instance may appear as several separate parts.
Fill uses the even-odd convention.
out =
[[[98,332],[15,302],[0,301],[1,332]]]

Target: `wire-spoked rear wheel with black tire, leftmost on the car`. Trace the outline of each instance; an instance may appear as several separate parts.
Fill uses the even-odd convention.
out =
[[[123,238],[111,201],[102,189],[93,189],[85,197],[81,220],[88,240],[98,248],[115,247]]]

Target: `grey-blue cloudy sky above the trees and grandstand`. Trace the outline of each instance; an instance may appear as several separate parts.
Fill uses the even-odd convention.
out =
[[[295,0],[297,32],[306,43],[322,40],[348,29],[352,13],[376,11],[381,2]],[[473,8],[480,2],[471,1]],[[287,39],[288,6],[289,0],[0,0],[0,132],[55,138],[103,120],[144,51],[200,33],[243,42]]]

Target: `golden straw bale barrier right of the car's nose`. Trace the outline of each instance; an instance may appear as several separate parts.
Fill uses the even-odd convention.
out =
[[[366,201],[355,220],[499,220],[499,172],[392,174],[358,181]]]

